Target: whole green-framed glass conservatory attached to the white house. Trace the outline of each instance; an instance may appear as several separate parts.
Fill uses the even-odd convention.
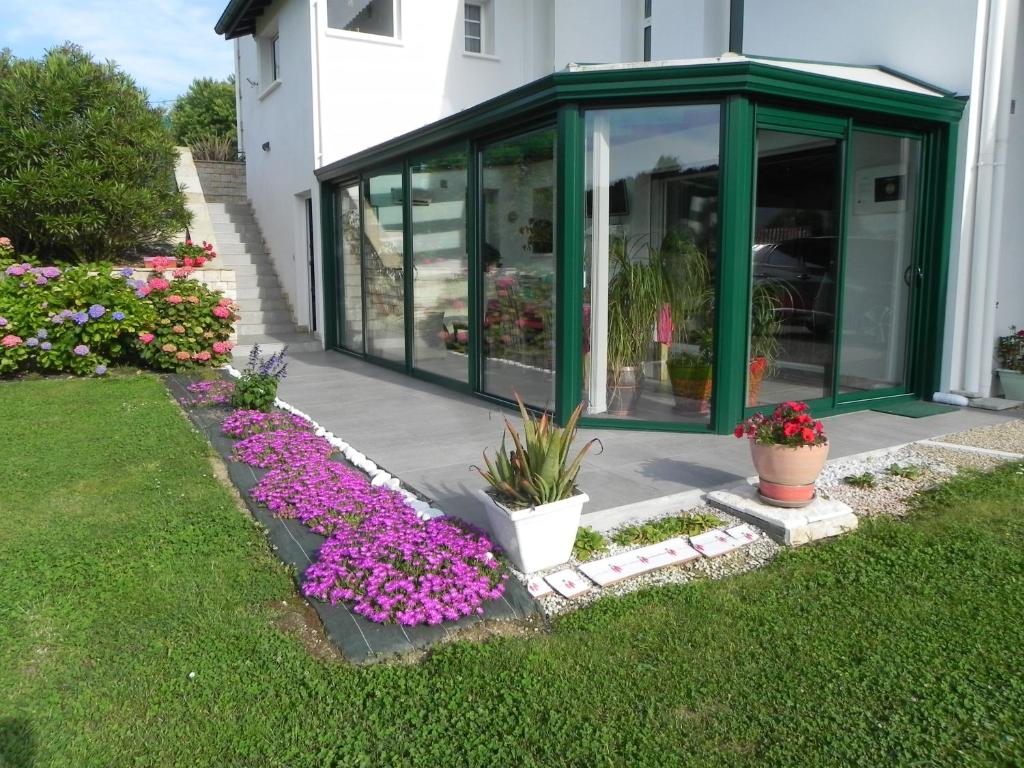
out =
[[[327,346],[602,428],[926,397],[962,110],[877,68],[572,66],[317,171]]]

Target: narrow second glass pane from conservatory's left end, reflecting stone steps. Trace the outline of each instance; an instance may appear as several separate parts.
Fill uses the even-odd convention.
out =
[[[406,361],[401,173],[364,182],[364,291],[367,354]]]

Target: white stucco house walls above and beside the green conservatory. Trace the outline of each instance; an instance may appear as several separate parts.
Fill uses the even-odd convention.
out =
[[[654,0],[652,58],[721,53],[728,0]],[[976,0],[746,0],[743,50],[753,55],[884,65],[961,94],[971,88]],[[329,30],[327,0],[280,0],[261,16],[282,37],[282,84],[262,100],[256,44],[239,44],[241,115],[250,196],[285,290],[307,322],[304,222],[297,195],[312,190],[312,169],[464,110],[570,61],[637,60],[643,0],[490,0],[493,51],[463,52],[463,4],[403,0],[397,39]],[[1024,41],[1018,46],[1024,80]],[[1018,87],[1018,92],[1019,92]],[[1021,100],[1021,99],[1018,99]],[[1024,103],[1024,101],[1021,101]],[[954,201],[951,274],[957,268],[967,119]],[[270,141],[271,150],[260,146]],[[1024,195],[1024,130],[1012,118],[1006,200]],[[1000,254],[997,333],[1024,325],[1017,289],[1024,217],[1008,209]],[[317,253],[319,243],[316,243]],[[970,265],[967,265],[970,268]],[[319,275],[317,275],[319,283]],[[321,311],[323,311],[323,302]],[[964,324],[950,293],[946,338]],[[318,326],[322,328],[323,323]],[[954,365],[945,350],[946,380]]]

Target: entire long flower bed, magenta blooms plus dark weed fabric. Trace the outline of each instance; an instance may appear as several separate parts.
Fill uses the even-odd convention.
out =
[[[169,386],[230,460],[232,481],[347,657],[375,660],[432,645],[476,618],[537,613],[483,534],[421,520],[400,494],[332,457],[301,418],[210,408],[220,403],[182,394],[199,389],[183,377]]]

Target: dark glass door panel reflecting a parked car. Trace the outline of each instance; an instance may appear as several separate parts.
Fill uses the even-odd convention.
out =
[[[840,146],[758,131],[748,406],[831,395]]]

